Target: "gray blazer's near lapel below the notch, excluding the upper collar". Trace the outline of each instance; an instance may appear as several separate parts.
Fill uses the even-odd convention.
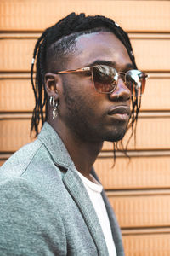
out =
[[[99,255],[109,255],[105,238],[99,224],[99,219],[97,218],[92,202],[89,199],[88,192],[85,189],[81,178],[77,173],[75,173],[77,171],[74,169],[76,168],[74,165],[72,165],[65,173],[63,178],[65,187],[68,189],[72,198],[77,203],[77,207],[82,213],[82,217],[88,226],[88,230],[98,249]]]

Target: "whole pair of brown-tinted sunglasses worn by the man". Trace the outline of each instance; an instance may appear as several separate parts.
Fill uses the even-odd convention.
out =
[[[95,90],[99,93],[110,94],[116,90],[118,79],[121,78],[127,88],[131,91],[132,96],[141,96],[144,92],[145,82],[148,78],[146,73],[137,69],[128,70],[126,73],[117,72],[114,67],[106,65],[96,65],[93,67],[82,67],[75,70],[60,71],[62,73],[80,73],[91,72],[92,81]]]

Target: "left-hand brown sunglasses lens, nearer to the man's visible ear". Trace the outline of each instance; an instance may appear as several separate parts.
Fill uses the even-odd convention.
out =
[[[93,68],[95,89],[100,93],[110,93],[116,89],[118,73],[113,67],[98,65]]]

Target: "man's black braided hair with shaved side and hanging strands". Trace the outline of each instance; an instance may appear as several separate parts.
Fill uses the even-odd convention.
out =
[[[54,67],[54,72],[59,71],[59,68],[62,67],[62,57],[74,49],[73,46],[76,44],[75,40],[78,36],[97,31],[113,32],[122,44],[124,44],[134,68],[137,68],[127,33],[116,22],[105,16],[86,16],[83,13],[80,15],[71,13],[62,20],[59,20],[54,26],[48,27],[42,33],[42,36],[37,39],[31,63],[31,84],[36,101],[31,118],[31,131],[36,131],[36,137],[39,132],[38,127],[40,122],[43,125],[44,121],[48,119],[48,95],[44,85],[45,73],[49,70],[52,72]],[[35,60],[37,61],[37,73],[36,79],[34,80],[33,70]],[[58,65],[59,67],[57,67]],[[132,98],[131,120],[128,125],[128,128],[132,128],[132,131],[129,140],[133,136],[133,132],[135,133],[140,104],[140,97]]]

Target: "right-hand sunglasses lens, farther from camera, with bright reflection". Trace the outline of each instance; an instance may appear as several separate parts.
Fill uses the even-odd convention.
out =
[[[141,96],[144,93],[147,75],[139,70],[129,70],[126,73],[126,85],[133,96]]]

